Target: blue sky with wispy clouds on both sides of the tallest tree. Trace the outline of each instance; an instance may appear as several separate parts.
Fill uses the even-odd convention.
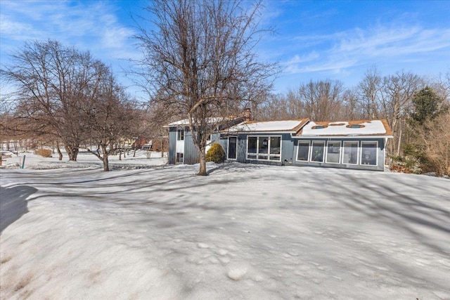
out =
[[[128,86],[122,69],[128,58],[141,56],[130,15],[143,13],[147,3],[0,0],[0,62],[8,63],[8,53],[25,41],[56,39],[91,51]],[[266,0],[264,6],[262,25],[275,27],[276,34],[257,53],[283,67],[276,92],[311,79],[339,79],[352,87],[373,65],[382,74],[405,70],[435,77],[450,71],[450,0]],[[132,86],[129,92],[142,95]]]

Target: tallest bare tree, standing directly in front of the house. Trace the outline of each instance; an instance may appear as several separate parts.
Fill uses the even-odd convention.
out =
[[[207,138],[217,124],[236,115],[250,99],[270,87],[274,65],[261,63],[255,46],[262,37],[257,24],[262,6],[245,10],[239,0],[155,0],[141,18],[145,58],[141,74],[150,92],[174,114],[184,115],[206,175]],[[147,30],[146,22],[155,30]],[[148,85],[147,85],[148,83]],[[214,122],[214,123],[216,123]]]

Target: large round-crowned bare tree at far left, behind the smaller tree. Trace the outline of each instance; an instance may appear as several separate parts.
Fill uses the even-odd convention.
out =
[[[76,160],[84,138],[79,107],[96,93],[98,60],[51,40],[27,43],[11,58],[1,75],[17,88],[13,97],[20,117],[35,130],[53,134]]]

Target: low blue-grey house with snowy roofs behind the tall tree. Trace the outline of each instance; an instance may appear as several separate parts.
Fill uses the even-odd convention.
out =
[[[220,143],[229,161],[243,163],[383,171],[386,144],[392,138],[386,120],[252,122],[246,119],[228,125],[218,128],[210,143]],[[169,164],[198,162],[186,125],[175,122],[168,127]]]

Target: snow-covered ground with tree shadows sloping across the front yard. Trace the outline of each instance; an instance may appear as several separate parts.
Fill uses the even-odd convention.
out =
[[[0,169],[28,209],[0,235],[1,299],[450,299],[449,179],[26,159]]]

